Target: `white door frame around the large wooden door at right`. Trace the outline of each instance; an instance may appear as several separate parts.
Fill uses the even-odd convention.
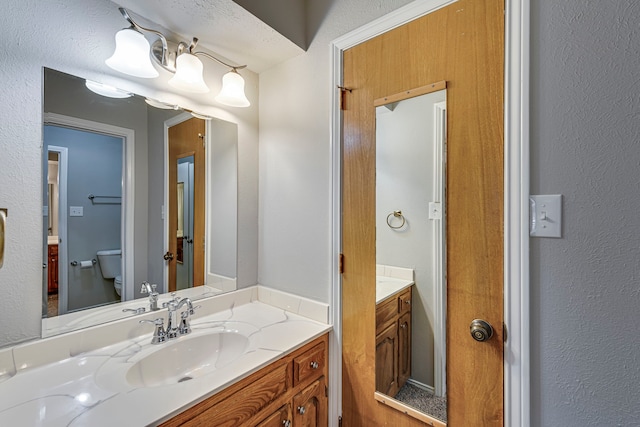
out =
[[[331,42],[331,271],[329,420],[342,414],[341,141],[342,54],[457,0],[416,0]],[[529,344],[529,10],[530,0],[505,1],[504,81],[504,425],[530,425]],[[371,396],[371,399],[374,397]]]

